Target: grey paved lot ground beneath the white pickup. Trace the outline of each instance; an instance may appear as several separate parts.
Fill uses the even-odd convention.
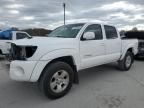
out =
[[[65,97],[47,99],[37,84],[12,81],[0,59],[0,108],[143,108],[144,60],[121,72],[115,64],[79,72],[80,84]]]

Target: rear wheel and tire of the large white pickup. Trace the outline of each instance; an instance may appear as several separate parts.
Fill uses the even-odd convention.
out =
[[[133,53],[127,51],[125,57],[118,62],[119,69],[122,71],[128,71],[131,68],[133,62],[134,62]]]

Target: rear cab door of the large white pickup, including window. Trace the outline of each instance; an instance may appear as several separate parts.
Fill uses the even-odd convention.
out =
[[[115,27],[104,25],[106,35],[106,60],[112,62],[118,60],[121,52],[121,39]]]

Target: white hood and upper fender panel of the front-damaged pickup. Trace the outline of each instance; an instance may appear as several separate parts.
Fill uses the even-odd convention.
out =
[[[75,38],[34,37],[12,41],[16,46],[37,46],[34,55],[29,60],[39,60],[45,54],[60,49],[75,49]]]

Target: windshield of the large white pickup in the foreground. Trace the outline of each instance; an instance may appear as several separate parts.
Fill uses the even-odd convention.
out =
[[[63,25],[52,31],[48,37],[75,38],[84,24]]]

